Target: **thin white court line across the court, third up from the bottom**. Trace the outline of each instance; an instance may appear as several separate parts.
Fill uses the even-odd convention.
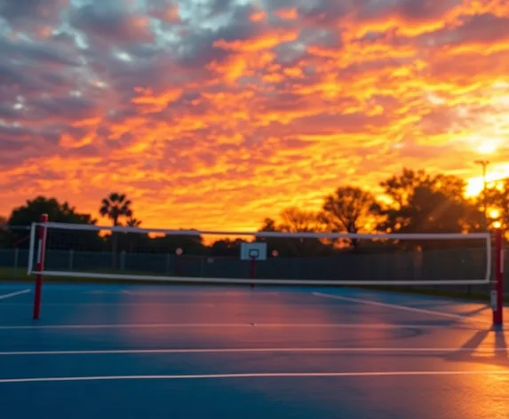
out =
[[[457,326],[456,326],[457,327]],[[451,326],[390,324],[390,323],[163,323],[163,324],[57,324],[57,325],[25,325],[0,326],[0,330],[24,329],[94,329],[94,328],[354,328],[354,329],[400,329],[400,328],[441,328]],[[472,328],[469,328],[472,329]]]

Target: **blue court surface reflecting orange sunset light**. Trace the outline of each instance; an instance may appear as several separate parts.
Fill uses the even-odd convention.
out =
[[[486,304],[361,289],[0,283],[0,416],[509,417]]]

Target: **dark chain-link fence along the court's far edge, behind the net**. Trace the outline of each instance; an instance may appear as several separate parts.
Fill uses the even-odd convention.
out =
[[[509,250],[509,249],[508,249]],[[249,278],[249,261],[238,257],[177,256],[172,253],[143,254],[122,251],[112,266],[111,252],[47,250],[46,269],[62,273],[132,273],[195,278]],[[479,249],[427,252],[416,262],[410,254],[336,257],[274,257],[257,262],[256,277],[285,280],[457,280],[457,285],[419,286],[414,289],[449,291],[489,296],[489,285],[465,285],[461,281],[482,278],[485,257]],[[28,249],[0,249],[0,278],[28,279]],[[509,260],[505,259],[505,272]],[[505,280],[507,281],[507,279]],[[505,293],[509,294],[509,281]]]

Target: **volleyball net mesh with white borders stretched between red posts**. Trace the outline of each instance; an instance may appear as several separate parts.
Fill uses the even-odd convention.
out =
[[[489,234],[151,231],[48,223],[44,273],[69,278],[390,285],[481,284]],[[36,235],[37,229],[33,229]],[[266,260],[241,259],[266,243]],[[38,241],[31,241],[36,272]]]

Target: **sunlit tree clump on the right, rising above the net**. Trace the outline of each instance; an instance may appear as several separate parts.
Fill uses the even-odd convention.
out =
[[[267,217],[260,230],[289,233],[479,233],[509,228],[509,178],[489,185],[485,191],[489,204],[486,218],[483,194],[466,198],[465,180],[454,175],[405,168],[400,174],[380,182],[379,186],[383,192],[380,196],[360,187],[339,186],[332,194],[323,197],[321,209],[283,209],[279,219]],[[271,240],[277,242],[277,239]],[[347,249],[360,247],[357,240],[342,244]],[[452,241],[413,241],[407,244],[421,248],[462,245]],[[324,251],[321,249],[323,241],[307,240],[299,245],[301,249],[294,249],[294,252]]]

